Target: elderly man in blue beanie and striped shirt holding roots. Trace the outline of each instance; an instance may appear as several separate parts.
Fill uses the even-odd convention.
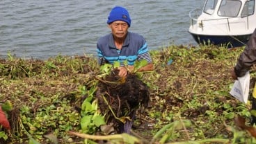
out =
[[[97,42],[98,62],[100,65],[104,63],[113,64],[120,62],[118,75],[125,77],[128,69],[134,69],[136,60],[147,60],[147,65],[138,71],[152,71],[154,66],[147,49],[145,39],[136,33],[128,31],[131,26],[129,12],[120,6],[113,8],[109,14],[107,21],[110,34],[100,37]],[[125,60],[128,62],[128,69],[125,67]]]

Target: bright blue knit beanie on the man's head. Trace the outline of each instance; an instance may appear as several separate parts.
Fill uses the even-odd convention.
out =
[[[107,24],[113,23],[113,21],[125,21],[131,26],[131,19],[129,16],[129,12],[120,6],[115,6],[109,13],[108,21],[106,21]]]

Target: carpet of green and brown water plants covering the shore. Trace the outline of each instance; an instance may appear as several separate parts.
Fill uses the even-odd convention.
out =
[[[150,107],[138,111],[134,136],[141,143],[253,143],[255,138],[234,124],[236,116],[248,123],[250,105],[229,94],[230,70],[241,51],[216,46],[150,51],[155,71],[140,73],[150,87]],[[88,142],[68,132],[92,134],[104,123],[95,116],[97,101],[90,99],[99,74],[97,60],[87,55],[0,60],[0,101],[13,104],[7,111],[12,130],[0,132],[0,142]]]

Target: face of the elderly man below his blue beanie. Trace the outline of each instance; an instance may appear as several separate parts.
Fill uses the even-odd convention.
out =
[[[109,28],[111,28],[114,37],[122,39],[126,37],[129,25],[125,21],[114,21],[109,24]]]

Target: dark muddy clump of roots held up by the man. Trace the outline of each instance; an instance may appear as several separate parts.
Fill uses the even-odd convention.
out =
[[[120,78],[118,72],[116,69],[99,81],[96,97],[99,109],[106,115],[107,125],[113,125],[115,133],[129,134],[136,111],[140,107],[147,107],[150,92],[136,74],[129,73],[127,78]]]

